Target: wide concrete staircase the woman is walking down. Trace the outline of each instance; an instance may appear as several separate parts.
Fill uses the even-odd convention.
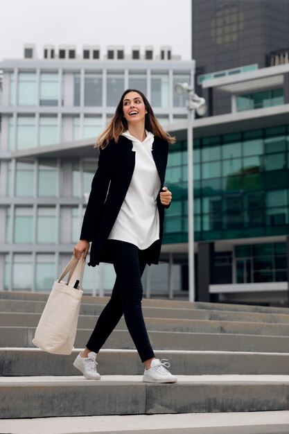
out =
[[[46,299],[0,293],[3,419],[288,409],[289,309],[143,300],[156,355],[168,358],[178,377],[176,384],[146,384],[123,320],[98,356],[101,381],[79,376],[72,365],[79,350],[55,356],[36,349]],[[83,297],[76,348],[106,302]]]

